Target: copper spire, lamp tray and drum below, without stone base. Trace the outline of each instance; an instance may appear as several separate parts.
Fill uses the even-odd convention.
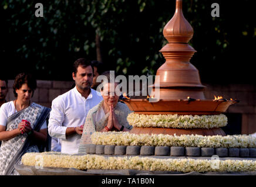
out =
[[[159,88],[160,100],[159,102],[150,102],[148,99],[124,98],[123,101],[129,106],[130,110],[137,114],[133,115],[134,117],[140,120],[144,115],[152,117],[151,115],[162,114],[169,115],[167,118],[171,122],[173,122],[171,115],[190,115],[191,119],[193,119],[192,115],[204,115],[204,117],[197,117],[197,119],[209,119],[213,115],[218,117],[228,109],[228,106],[237,102],[227,99],[209,100],[204,97],[203,89],[206,86],[201,84],[197,68],[190,63],[190,58],[196,50],[188,44],[188,41],[193,37],[193,28],[183,16],[182,1],[176,1],[176,11],[173,18],[164,27],[163,34],[169,42],[160,50],[166,58],[166,62],[157,70],[156,75],[159,75],[160,80],[159,83],[153,85],[152,91],[154,93],[154,88]],[[163,118],[166,118],[166,116],[160,117],[160,122],[164,120]],[[134,120],[133,122],[136,123]],[[180,126],[178,124],[170,126],[175,127],[175,129],[160,129],[157,124],[154,124],[154,127],[148,125],[144,128],[135,125],[131,133],[225,136],[224,131],[219,128],[221,126],[223,126],[223,123],[208,127],[207,125]]]

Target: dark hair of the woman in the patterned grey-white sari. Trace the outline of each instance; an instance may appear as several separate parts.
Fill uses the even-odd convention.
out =
[[[32,74],[26,74],[25,72],[18,74],[14,80],[14,85],[12,86],[12,88],[14,88],[14,96],[18,96],[16,89],[21,88],[23,84],[28,84],[28,87],[32,89],[33,96],[33,93],[36,89],[36,79],[33,78]]]

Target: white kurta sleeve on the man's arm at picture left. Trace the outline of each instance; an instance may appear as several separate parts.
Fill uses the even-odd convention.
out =
[[[50,136],[66,140],[67,127],[62,126],[64,120],[65,104],[62,98],[58,97],[52,101],[52,110],[50,111],[48,124],[48,131]]]

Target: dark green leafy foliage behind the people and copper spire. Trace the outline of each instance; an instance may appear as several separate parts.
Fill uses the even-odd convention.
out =
[[[167,42],[162,32],[174,14],[174,0],[40,1],[44,17],[36,18],[38,2],[0,3],[1,72],[9,79],[21,71],[32,71],[38,79],[71,79],[73,61],[96,60],[96,33],[107,70],[156,74],[164,63],[159,50]],[[220,5],[220,18],[211,17],[214,2]],[[253,4],[252,0],[183,1],[184,16],[194,28],[190,44],[197,50],[191,63],[203,82],[254,78]]]

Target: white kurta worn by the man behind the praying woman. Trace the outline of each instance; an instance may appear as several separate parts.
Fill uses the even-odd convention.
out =
[[[100,101],[102,96],[99,92],[91,89],[89,96],[85,99],[76,86],[53,99],[48,131],[50,136],[60,138],[62,153],[78,153],[81,136],[72,134],[66,137],[66,129],[83,125],[89,110]]]

